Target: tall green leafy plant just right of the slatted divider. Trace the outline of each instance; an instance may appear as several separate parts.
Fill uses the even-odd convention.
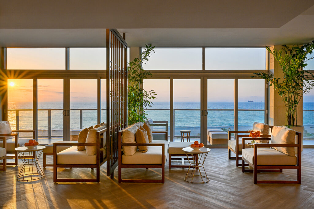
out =
[[[145,113],[144,108],[151,107],[153,104],[151,100],[156,98],[154,90],[146,91],[143,89],[143,79],[152,76],[152,74],[142,68],[142,64],[148,61],[150,54],[155,53],[154,48],[152,44],[145,45],[139,57],[128,63],[127,123],[129,125],[147,120],[147,113]]]

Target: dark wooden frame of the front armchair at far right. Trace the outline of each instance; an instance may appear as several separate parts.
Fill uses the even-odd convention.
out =
[[[252,172],[254,175],[254,184],[258,183],[268,183],[268,184],[301,184],[301,133],[296,132],[297,135],[297,144],[254,144],[253,147],[253,160],[254,162],[251,163],[248,159],[245,159],[242,156],[242,172]],[[251,140],[251,138],[242,138],[242,149],[244,149],[244,144],[246,140]],[[263,140],[271,140],[271,138],[263,138]],[[258,149],[263,147],[297,147],[297,163],[296,165],[258,165]],[[277,151],[277,150],[276,150]],[[280,151],[278,151],[280,152]],[[245,162],[247,165],[250,165],[253,169],[246,169]],[[258,172],[282,172],[282,169],[297,169],[297,180],[257,180],[257,173]]]

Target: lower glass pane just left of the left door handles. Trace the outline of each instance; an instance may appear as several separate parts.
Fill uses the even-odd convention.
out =
[[[38,141],[50,144],[63,139],[63,79],[38,79]]]

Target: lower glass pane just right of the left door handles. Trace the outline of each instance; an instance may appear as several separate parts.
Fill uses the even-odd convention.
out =
[[[71,139],[78,129],[97,124],[97,79],[71,79],[70,81]]]

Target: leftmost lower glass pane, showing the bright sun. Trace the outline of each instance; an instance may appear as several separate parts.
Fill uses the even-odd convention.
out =
[[[12,130],[33,130],[33,79],[8,79],[8,121]],[[19,138],[33,138],[19,133]]]

